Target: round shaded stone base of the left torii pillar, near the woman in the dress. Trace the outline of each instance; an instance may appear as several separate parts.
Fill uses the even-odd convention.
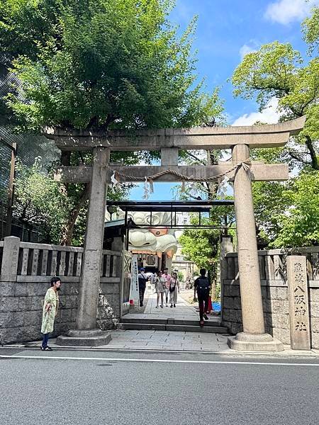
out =
[[[66,335],[58,336],[55,344],[60,346],[96,347],[107,345],[111,339],[111,333],[101,331],[101,329],[72,329]]]

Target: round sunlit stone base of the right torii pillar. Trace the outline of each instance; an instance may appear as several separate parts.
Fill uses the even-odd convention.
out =
[[[284,351],[282,342],[269,334],[239,332],[236,336],[229,336],[227,344],[236,351]]]

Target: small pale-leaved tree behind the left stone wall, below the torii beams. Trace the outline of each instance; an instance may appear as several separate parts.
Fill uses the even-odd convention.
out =
[[[74,238],[70,242],[78,246],[83,244],[87,208],[87,198],[82,196],[83,185],[73,184],[66,191],[65,185],[53,179],[53,171],[43,167],[40,157],[35,159],[32,166],[26,166],[17,159],[14,185],[13,218],[18,224],[26,225],[30,230],[33,227],[40,229],[42,242],[60,244],[66,238],[65,232],[72,232],[67,236],[73,237],[73,227],[77,222]],[[127,196],[129,188],[122,186],[116,193],[110,192],[108,198],[118,200]],[[77,219],[72,221],[70,228],[70,217],[75,215],[75,211]]]

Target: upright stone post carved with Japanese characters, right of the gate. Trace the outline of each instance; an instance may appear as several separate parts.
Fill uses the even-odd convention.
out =
[[[306,257],[288,256],[287,273],[291,348],[310,350]]]

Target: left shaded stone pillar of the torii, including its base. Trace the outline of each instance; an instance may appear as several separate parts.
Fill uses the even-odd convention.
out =
[[[66,336],[59,336],[57,344],[60,345],[97,346],[108,344],[111,340],[110,333],[101,331],[96,326],[106,208],[106,165],[109,157],[110,149],[94,147],[77,329],[70,330]]]

